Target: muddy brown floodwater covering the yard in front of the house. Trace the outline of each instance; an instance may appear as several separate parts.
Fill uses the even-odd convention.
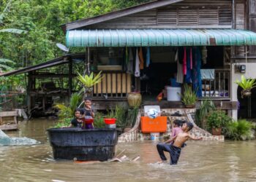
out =
[[[118,144],[116,153],[137,162],[100,162],[78,164],[55,161],[46,129],[50,120],[32,120],[20,124],[12,137],[40,141],[37,146],[1,146],[0,181],[255,181],[256,141],[189,141],[181,151],[178,165],[158,165],[154,142]]]

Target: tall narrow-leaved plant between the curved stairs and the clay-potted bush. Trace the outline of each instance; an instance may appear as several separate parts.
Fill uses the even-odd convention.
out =
[[[216,108],[214,103],[211,100],[203,100],[200,108],[195,111],[195,120],[197,125],[206,129],[206,117],[211,111],[214,111]]]

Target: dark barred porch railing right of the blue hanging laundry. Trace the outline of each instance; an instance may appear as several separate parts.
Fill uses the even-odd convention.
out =
[[[230,70],[216,69],[214,80],[202,80],[202,98],[230,98]]]

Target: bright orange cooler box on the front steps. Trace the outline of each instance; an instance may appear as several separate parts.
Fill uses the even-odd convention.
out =
[[[158,116],[151,119],[148,116],[140,117],[141,132],[166,132],[167,130],[167,116]]]

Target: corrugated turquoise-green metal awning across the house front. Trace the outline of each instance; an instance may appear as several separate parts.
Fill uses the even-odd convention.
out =
[[[67,47],[256,45],[256,33],[236,29],[110,29],[67,31]]]

